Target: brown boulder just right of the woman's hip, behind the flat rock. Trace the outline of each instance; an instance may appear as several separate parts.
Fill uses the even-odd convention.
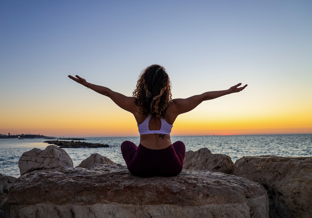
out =
[[[232,174],[233,167],[231,157],[225,154],[212,154],[208,148],[185,152],[183,169],[186,170],[209,170]]]

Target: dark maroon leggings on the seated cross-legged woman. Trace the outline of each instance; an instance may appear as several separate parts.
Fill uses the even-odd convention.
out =
[[[165,149],[154,150],[124,141],[121,153],[129,172],[135,176],[176,176],[182,171],[185,145],[176,141]]]

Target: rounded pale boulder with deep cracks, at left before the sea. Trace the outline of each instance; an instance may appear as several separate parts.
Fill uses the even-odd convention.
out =
[[[55,145],[47,146],[45,150],[33,148],[26,151],[18,161],[21,175],[29,172],[61,170],[73,167],[73,161],[67,152]]]

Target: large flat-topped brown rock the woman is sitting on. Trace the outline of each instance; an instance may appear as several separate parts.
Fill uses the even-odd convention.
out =
[[[27,174],[7,198],[7,217],[268,217],[263,186],[219,172],[142,178],[125,166]]]

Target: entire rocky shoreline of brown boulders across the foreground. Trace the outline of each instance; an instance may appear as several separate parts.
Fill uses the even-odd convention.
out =
[[[1,218],[312,217],[312,157],[252,156],[234,164],[202,148],[186,152],[178,176],[141,178],[100,154],[74,167],[66,151],[50,145],[25,152],[19,168],[15,182],[0,175]]]

